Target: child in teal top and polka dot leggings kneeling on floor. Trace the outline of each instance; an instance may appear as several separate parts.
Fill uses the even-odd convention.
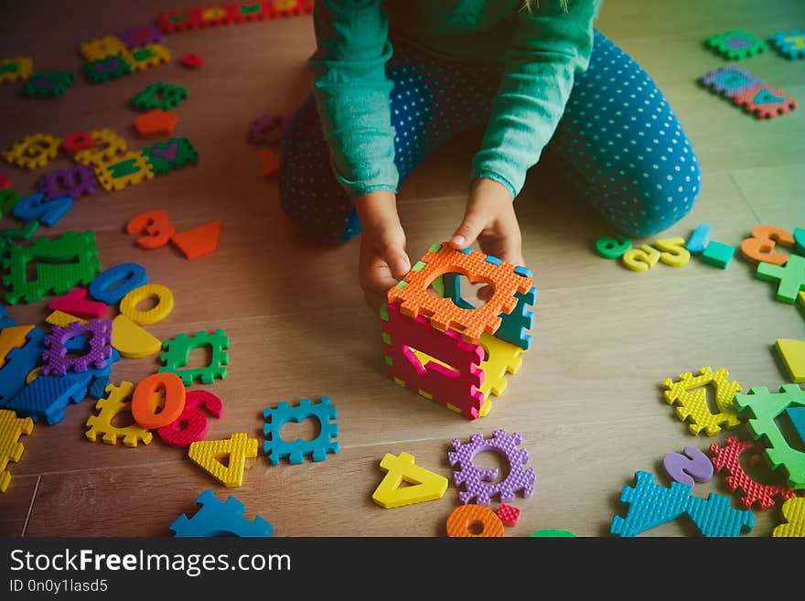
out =
[[[362,228],[370,304],[411,266],[399,183],[480,123],[458,249],[478,240],[523,264],[512,199],[543,148],[621,231],[656,233],[691,209],[696,156],[648,74],[593,29],[601,2],[317,0],[314,91],[284,135],[280,197],[320,241]]]

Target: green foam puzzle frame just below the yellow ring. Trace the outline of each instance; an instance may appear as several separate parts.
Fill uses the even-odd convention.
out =
[[[188,368],[190,353],[195,349],[209,347],[211,351],[209,365],[203,368]],[[160,373],[175,373],[189,386],[194,380],[204,384],[211,384],[216,379],[224,380],[227,377],[226,365],[229,363],[230,339],[222,329],[214,333],[201,330],[193,336],[178,334],[176,338],[165,340],[162,343],[165,352],[160,356],[163,366]]]

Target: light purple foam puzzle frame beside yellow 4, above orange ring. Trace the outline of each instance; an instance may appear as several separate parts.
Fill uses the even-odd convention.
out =
[[[506,435],[504,430],[495,430],[491,438],[474,434],[470,435],[469,440],[470,442],[463,445],[458,438],[455,438],[453,448],[456,450],[447,454],[451,466],[456,467],[458,464],[461,467],[461,471],[453,472],[453,478],[456,480],[456,486],[464,484],[467,488],[458,492],[458,498],[462,503],[476,499],[478,505],[489,505],[494,495],[499,495],[501,502],[508,503],[514,499],[518,491],[521,491],[525,498],[531,497],[534,493],[533,484],[537,478],[531,467],[524,468],[529,456],[524,448],[517,448],[522,442],[521,435],[516,432]],[[473,465],[473,457],[482,451],[499,451],[506,456],[509,461],[509,475],[505,479],[489,484],[498,478],[498,470],[478,469]]]

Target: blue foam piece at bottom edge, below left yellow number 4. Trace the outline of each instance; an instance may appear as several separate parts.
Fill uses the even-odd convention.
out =
[[[203,491],[196,503],[201,507],[192,518],[181,514],[170,526],[177,537],[240,536],[266,538],[274,532],[274,527],[259,515],[253,521],[243,517],[245,507],[238,499],[227,497],[221,503],[212,490]]]

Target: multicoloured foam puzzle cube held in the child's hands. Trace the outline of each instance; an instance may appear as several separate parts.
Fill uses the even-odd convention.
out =
[[[461,298],[457,274],[492,288],[484,306]],[[389,376],[467,419],[486,415],[488,396],[502,394],[505,375],[520,368],[521,353],[531,347],[526,330],[536,297],[525,267],[434,244],[389,290],[381,311]]]

